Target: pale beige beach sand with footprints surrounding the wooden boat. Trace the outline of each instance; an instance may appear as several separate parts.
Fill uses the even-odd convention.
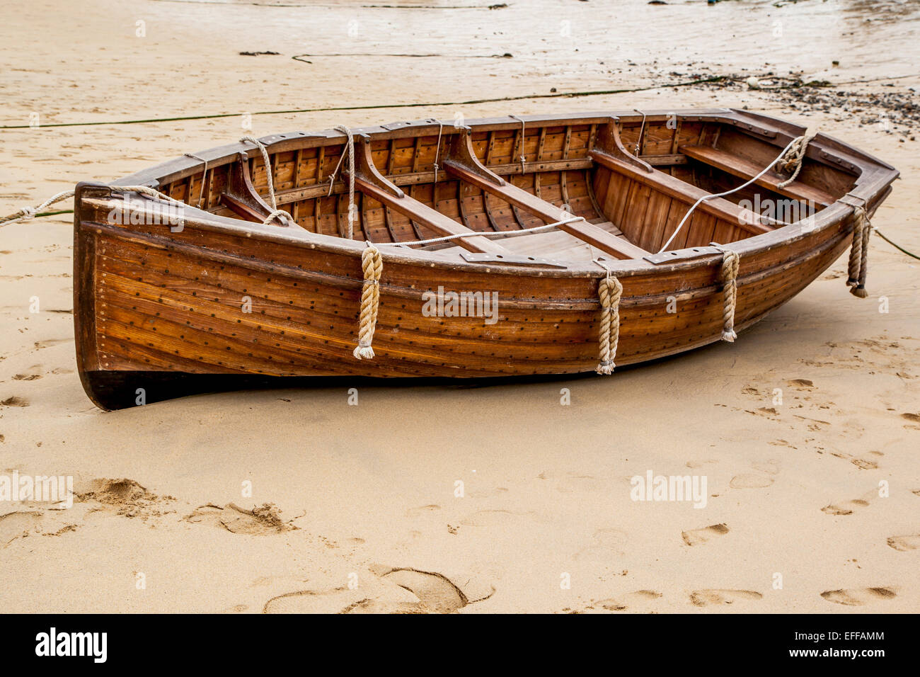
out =
[[[875,224],[920,250],[920,142],[900,124],[920,86],[915,4],[490,2],[6,0],[0,122],[802,72],[834,82],[818,94],[845,91],[849,108],[736,83],[257,115],[253,133],[457,112],[748,106],[900,169]],[[438,4],[469,8],[426,8]],[[290,58],[300,53],[445,56]],[[490,58],[504,53],[512,57]],[[238,115],[0,130],[0,213],[241,131]],[[69,216],[0,230],[0,473],[73,475],[77,494],[63,510],[0,503],[5,611],[920,611],[917,263],[878,238],[869,298],[846,292],[840,261],[737,343],[612,378],[386,384],[362,387],[358,406],[343,383],[110,414],[88,402],[75,374],[71,238]],[[706,475],[707,507],[632,501],[629,478],[649,470]],[[242,495],[247,482],[252,496]]]

